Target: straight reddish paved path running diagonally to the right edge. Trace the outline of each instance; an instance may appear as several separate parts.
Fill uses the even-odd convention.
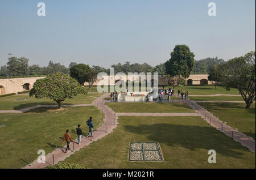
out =
[[[215,117],[212,113],[209,113],[208,110],[204,109],[200,105],[196,104],[195,101],[184,100],[184,102],[190,105],[193,109],[197,110],[197,112],[201,115],[202,118],[205,119],[210,125],[216,127],[217,130],[224,132],[229,137],[232,137],[237,142],[240,142],[243,146],[249,148],[250,151],[255,152],[255,140],[249,136],[246,136],[240,131],[234,130],[232,127],[226,125]]]

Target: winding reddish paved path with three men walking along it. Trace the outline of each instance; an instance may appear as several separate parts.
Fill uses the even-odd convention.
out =
[[[114,121],[115,114],[113,110],[109,109],[109,107],[104,104],[104,98],[108,96],[109,94],[105,94],[100,98],[97,98],[96,100],[94,100],[92,103],[92,105],[96,105],[101,110],[101,112],[105,114],[104,123],[102,124],[101,127],[97,128],[97,130],[94,131],[93,139],[83,137],[81,140],[81,145],[75,142],[75,151],[79,151],[79,149],[83,148],[86,145],[89,145],[93,141],[97,141],[98,139],[103,138],[104,136],[113,132],[114,128],[117,127],[118,122],[116,121],[116,119]],[[53,164],[53,157],[54,157],[54,164],[57,164],[59,161],[65,160],[65,158],[71,156],[74,153],[72,151],[69,151],[68,153],[64,153],[65,147],[67,147],[67,145],[65,145],[64,147],[58,148],[57,151],[48,153],[48,155],[46,156],[45,164],[44,163],[39,164],[37,160],[35,160],[32,166],[27,165],[23,169],[45,168],[46,166]],[[71,148],[71,150],[73,150],[73,143],[71,143],[69,147]]]

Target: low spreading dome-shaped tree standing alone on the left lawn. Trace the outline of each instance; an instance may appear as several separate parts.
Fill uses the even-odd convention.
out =
[[[61,102],[66,98],[72,98],[80,94],[86,95],[86,89],[71,76],[61,73],[36,80],[30,91],[30,96],[35,96],[38,99],[50,98],[57,102],[59,108],[62,108]]]

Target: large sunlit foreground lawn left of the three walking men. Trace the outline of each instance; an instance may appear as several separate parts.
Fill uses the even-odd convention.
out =
[[[47,109],[39,108],[22,114],[0,114],[0,125],[5,125],[0,127],[0,168],[26,166],[30,162],[30,151],[33,161],[39,156],[39,149],[46,151],[47,155],[54,151],[55,139],[57,147],[63,147],[65,130],[69,129],[71,137],[75,139],[78,124],[84,134],[87,134],[86,120],[90,116],[93,117],[94,128],[99,127],[102,122],[102,114],[96,106],[64,108],[59,112],[48,112]]]

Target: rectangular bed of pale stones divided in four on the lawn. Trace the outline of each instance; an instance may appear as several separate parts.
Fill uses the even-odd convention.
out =
[[[163,155],[159,143],[131,142],[129,161],[163,161]]]

